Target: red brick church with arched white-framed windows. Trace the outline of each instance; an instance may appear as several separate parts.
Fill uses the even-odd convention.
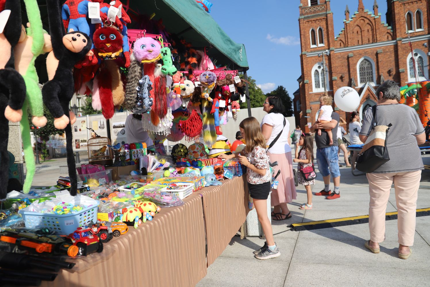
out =
[[[334,2],[300,0],[301,76],[293,101],[296,125],[306,131],[307,124],[316,120],[318,99],[325,91],[333,97],[339,87],[355,88],[361,118],[377,102],[375,90],[384,80],[404,86],[429,78],[429,0],[387,0],[387,23],[381,21],[377,0],[372,10],[357,0],[357,11],[346,6],[344,28],[336,36],[330,4],[341,1]],[[333,107],[349,121],[350,113],[335,103]]]

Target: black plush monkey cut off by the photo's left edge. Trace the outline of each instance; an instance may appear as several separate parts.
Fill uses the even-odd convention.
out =
[[[3,2],[3,3],[2,3]],[[13,48],[21,37],[21,1],[0,1],[0,6],[11,10],[3,33],[0,34],[0,199],[6,198],[9,178],[9,122],[22,119],[25,100],[25,82],[15,70]],[[1,7],[0,7],[1,8]]]

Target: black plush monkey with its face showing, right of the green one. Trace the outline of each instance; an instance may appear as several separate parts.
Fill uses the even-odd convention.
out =
[[[74,81],[72,69],[89,52],[92,41],[87,34],[80,31],[65,33],[59,0],[47,0],[49,34],[51,35],[52,52],[46,58],[49,81],[43,85],[43,103],[54,116],[55,128],[66,133],[66,151],[70,194],[77,193],[76,163],[73,156],[72,127],[76,116],[69,110],[73,97]]]

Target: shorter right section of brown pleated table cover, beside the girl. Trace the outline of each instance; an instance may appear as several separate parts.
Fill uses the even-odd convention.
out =
[[[246,220],[248,188],[243,177],[221,181],[222,185],[199,190],[203,195],[203,211],[208,240],[208,266],[221,255],[231,238]]]

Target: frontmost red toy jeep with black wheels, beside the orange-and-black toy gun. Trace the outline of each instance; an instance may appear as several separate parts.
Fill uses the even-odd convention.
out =
[[[103,251],[103,242],[98,239],[98,236],[92,233],[91,228],[78,227],[73,233],[67,236],[73,245],[76,245],[78,255],[86,256],[93,252]]]

